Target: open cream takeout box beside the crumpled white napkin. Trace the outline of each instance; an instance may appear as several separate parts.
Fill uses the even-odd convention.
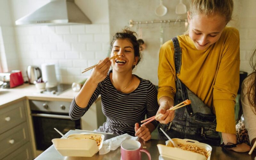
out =
[[[52,140],[55,149],[62,156],[91,157],[102,147],[104,135],[79,133],[70,134],[67,138],[55,138]],[[100,140],[99,145],[97,145],[96,140]]]

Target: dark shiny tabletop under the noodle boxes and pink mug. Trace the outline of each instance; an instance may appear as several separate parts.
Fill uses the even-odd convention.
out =
[[[74,134],[74,133],[82,133],[82,131],[74,131],[70,130],[68,131],[65,136],[68,136],[69,134]],[[114,135],[108,135],[105,134],[105,140],[110,139],[114,137]],[[157,149],[157,144],[165,144],[164,140],[149,140],[147,142],[142,143],[142,147],[147,147],[146,149],[149,151],[151,155],[152,160],[157,160],[159,158],[159,152]],[[148,159],[147,155],[142,153],[141,154],[141,159]],[[211,154],[211,160],[220,160],[220,159],[236,159],[236,160],[244,160],[244,159],[251,159],[254,160],[254,157],[256,156],[256,152],[254,151],[252,155],[248,155],[248,152],[246,153],[237,153],[234,151],[227,151],[227,150],[222,150],[221,147],[212,147],[212,154]],[[117,148],[114,151],[110,151],[109,153],[105,155],[99,155],[99,152],[95,154],[92,157],[65,157],[61,156],[60,153],[54,148],[52,145],[48,149],[46,149],[41,155],[36,157],[35,160],[45,160],[45,159],[59,159],[59,160],[98,160],[98,159],[111,159],[111,160],[120,160],[121,153],[120,153],[120,147]]]

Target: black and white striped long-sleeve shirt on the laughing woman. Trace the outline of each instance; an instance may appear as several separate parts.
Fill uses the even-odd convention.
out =
[[[98,84],[86,108],[80,108],[76,105],[75,99],[73,99],[69,116],[72,120],[81,118],[98,96],[101,95],[102,111],[107,117],[107,122],[98,131],[111,132],[117,135],[128,133],[134,136],[135,123],[141,124],[140,121],[145,119],[145,115],[147,117],[156,115],[159,108],[156,87],[150,81],[137,76],[140,79],[139,86],[131,93],[122,93],[117,91],[111,83],[109,73]],[[156,120],[151,123],[155,126],[158,125]]]

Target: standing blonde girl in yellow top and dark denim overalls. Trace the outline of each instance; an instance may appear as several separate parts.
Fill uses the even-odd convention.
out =
[[[192,0],[188,33],[167,41],[159,52],[157,118],[172,138],[188,138],[237,152],[235,97],[239,87],[239,33],[226,27],[232,0]],[[186,99],[192,103],[169,111]],[[157,114],[158,114],[157,113]]]

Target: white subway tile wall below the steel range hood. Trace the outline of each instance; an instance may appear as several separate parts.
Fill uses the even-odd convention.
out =
[[[12,64],[20,62],[24,79],[28,65],[41,68],[43,63],[54,63],[60,83],[79,82],[90,76],[91,71],[81,73],[84,68],[104,59],[109,52],[108,24],[17,26],[15,34],[20,58]]]

